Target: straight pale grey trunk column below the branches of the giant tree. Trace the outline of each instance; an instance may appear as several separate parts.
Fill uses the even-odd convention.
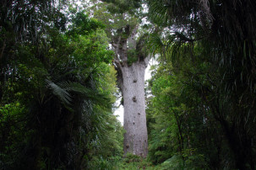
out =
[[[130,152],[140,157],[146,157],[148,151],[144,99],[145,68],[142,61],[123,67],[123,127],[126,130],[123,149],[125,154]]]

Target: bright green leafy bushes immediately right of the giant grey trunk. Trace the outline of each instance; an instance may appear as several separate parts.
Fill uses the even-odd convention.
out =
[[[154,98],[147,109],[149,158],[171,169],[225,166],[215,163],[220,154],[226,154],[222,152],[223,132],[197,93],[202,84],[210,86],[204,76],[211,72],[209,63],[181,54],[184,56],[177,62],[164,61],[153,70],[149,84]],[[177,157],[180,161],[172,162]]]

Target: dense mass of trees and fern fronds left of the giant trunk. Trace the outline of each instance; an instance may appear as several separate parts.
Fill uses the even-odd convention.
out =
[[[20,25],[8,28],[1,20],[0,168],[95,169],[93,162],[120,157],[123,127],[112,114],[116,72],[103,25],[73,12],[67,27],[67,13],[53,17],[57,8],[48,1],[27,1],[48,7],[25,9],[30,23],[19,19],[30,5],[13,3],[1,3],[14,15],[1,19],[17,15]]]

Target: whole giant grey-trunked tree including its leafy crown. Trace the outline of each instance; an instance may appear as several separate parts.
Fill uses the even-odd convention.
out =
[[[128,8],[130,7],[130,8]],[[133,8],[131,8],[133,7]],[[148,135],[144,100],[144,72],[150,60],[144,50],[145,35],[139,32],[140,3],[106,1],[98,3],[95,17],[106,24],[117,70],[117,84],[123,95],[124,153],[147,156]]]

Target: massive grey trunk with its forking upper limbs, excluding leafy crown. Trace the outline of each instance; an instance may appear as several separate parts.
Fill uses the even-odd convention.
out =
[[[128,38],[119,36],[112,42],[112,47],[116,52],[114,65],[117,69],[117,84],[123,95],[124,154],[129,152],[146,157],[148,133],[144,99],[144,72],[150,58],[140,54],[140,56],[135,56],[136,61],[132,63],[128,61],[128,50],[139,50],[135,48],[136,30],[135,28],[131,31],[129,26],[126,26],[124,33],[128,35]]]

